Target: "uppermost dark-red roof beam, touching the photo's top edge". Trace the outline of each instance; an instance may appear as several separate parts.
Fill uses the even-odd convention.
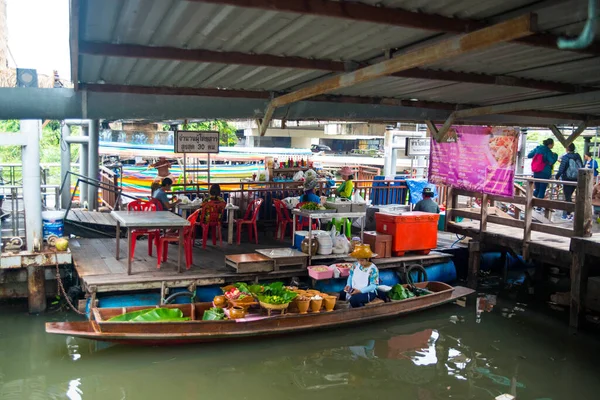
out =
[[[268,11],[291,12],[320,17],[341,18],[352,21],[372,22],[434,32],[467,33],[491,26],[485,21],[450,18],[442,15],[407,11],[401,8],[377,7],[350,1],[332,0],[188,0],[196,3],[211,3]],[[543,8],[543,7],[542,7]],[[524,12],[522,14],[525,14]],[[514,39],[535,47],[558,50],[558,36],[538,33],[526,38]],[[585,49],[570,50],[585,54],[600,55],[600,42],[595,41]]]

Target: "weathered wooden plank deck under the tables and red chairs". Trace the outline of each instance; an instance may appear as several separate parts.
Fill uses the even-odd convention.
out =
[[[115,239],[76,239],[71,240],[71,252],[77,274],[82,280],[84,290],[88,292],[117,292],[162,287],[187,287],[190,285],[207,286],[232,281],[252,281],[258,279],[279,279],[292,276],[306,276],[306,269],[285,270],[262,273],[237,274],[234,269],[225,266],[226,254],[253,253],[257,249],[286,247],[289,244],[272,239],[261,240],[258,245],[243,243],[240,246],[207,246],[194,248],[193,265],[190,270],[177,273],[177,247],[170,246],[168,261],[160,269],[156,268],[156,252],[148,256],[147,240],[138,240],[132,274],[127,275],[127,243],[121,241],[121,259],[115,259]],[[431,265],[445,262],[451,258],[448,254],[433,252],[429,255],[406,255],[376,261],[380,269],[398,268],[421,263]]]

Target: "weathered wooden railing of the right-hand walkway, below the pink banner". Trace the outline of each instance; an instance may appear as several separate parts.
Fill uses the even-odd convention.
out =
[[[446,224],[454,221],[456,217],[470,218],[480,221],[479,231],[485,233],[487,224],[494,223],[504,226],[523,229],[523,249],[524,255],[527,252],[527,243],[531,240],[531,232],[543,232],[551,235],[563,237],[589,237],[592,235],[592,185],[593,174],[589,169],[580,169],[577,182],[555,181],[535,178],[517,178],[524,182],[525,195],[515,197],[502,197],[488,194],[482,194],[461,189],[449,189],[448,208],[446,211]],[[561,184],[576,186],[575,203],[561,200],[547,200],[533,197],[534,185],[536,182],[547,184]],[[466,196],[481,200],[481,210],[479,212],[473,209],[458,208],[458,196]],[[494,215],[490,213],[490,206],[494,203],[503,202],[509,204],[521,205],[524,208],[524,219],[514,219],[508,216]],[[553,226],[549,223],[539,223],[533,221],[533,208],[543,207],[545,209],[554,209],[566,212],[574,212],[573,228]]]

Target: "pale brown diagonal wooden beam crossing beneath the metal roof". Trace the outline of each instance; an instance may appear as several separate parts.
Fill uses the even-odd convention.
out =
[[[484,49],[507,40],[530,35],[535,30],[535,25],[535,15],[528,14],[510,21],[501,22],[489,28],[468,33],[462,37],[444,40],[437,44],[414,50],[401,57],[392,58],[391,60],[382,61],[378,64],[370,65],[354,72],[335,76],[295,92],[277,97],[269,103],[265,114],[268,112],[271,112],[272,114],[271,109],[318,96],[320,94],[377,79],[395,72],[431,64],[441,59],[447,59],[448,57]],[[265,118],[265,121],[263,121],[264,126],[262,128],[266,128],[268,124],[269,121]],[[264,134],[264,131],[261,131],[261,135],[262,134]]]

